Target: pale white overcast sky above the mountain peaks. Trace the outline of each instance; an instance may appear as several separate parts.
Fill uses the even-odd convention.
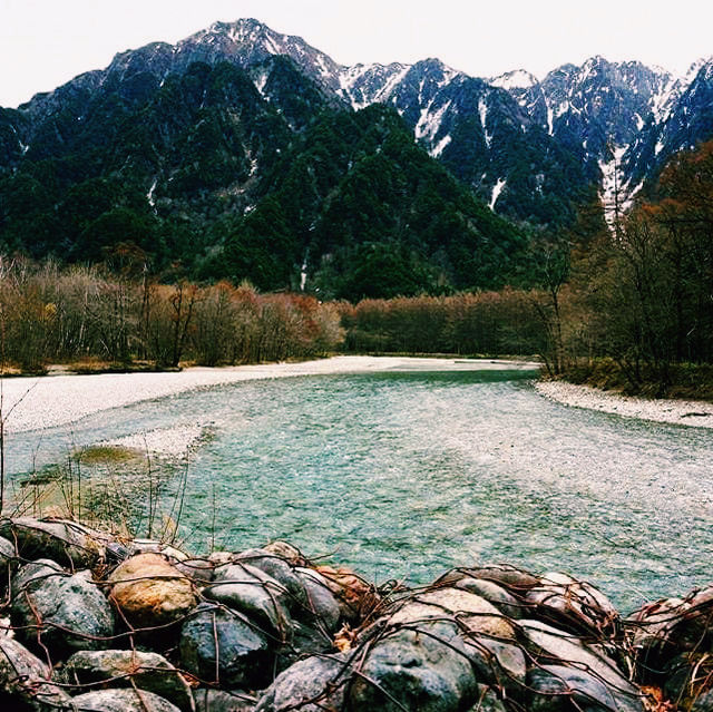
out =
[[[0,0],[0,106],[116,52],[243,17],[341,64],[438,57],[479,77],[520,67],[543,77],[594,55],[685,74],[713,55],[712,0]]]

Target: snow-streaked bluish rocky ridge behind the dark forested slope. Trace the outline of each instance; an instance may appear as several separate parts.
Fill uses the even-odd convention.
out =
[[[598,55],[582,66],[565,64],[556,67],[541,80],[526,69],[511,70],[498,77],[472,77],[436,58],[411,65],[346,66],[338,64],[301,37],[276,32],[254,18],[245,18],[234,22],[214,22],[175,45],[153,42],[119,52],[104,70],[79,75],[52,92],[36,95],[17,110],[31,118],[47,116],[57,110],[58,104],[66,101],[68,94],[86,95],[106,81],[127,87],[130,86],[129,79],[145,72],[152,72],[163,81],[172,72],[185,71],[193,61],[215,64],[227,60],[246,69],[275,55],[290,57],[324,89],[334,106],[349,104],[359,110],[380,103],[397,108],[431,156],[470,183],[486,202],[492,201],[496,186],[505,181],[506,187],[500,189],[494,206],[500,205],[506,214],[517,220],[537,218],[531,211],[517,208],[520,194],[512,193],[518,183],[512,167],[515,162],[488,158],[494,153],[494,145],[501,150],[502,140],[510,138],[507,130],[500,131],[504,138],[499,138],[497,130],[490,131],[485,125],[487,118],[494,116],[489,100],[492,99],[495,114],[498,114],[498,118],[491,118],[494,124],[519,123],[525,134],[538,126],[570,152],[583,165],[583,176],[576,179],[577,188],[586,181],[596,179],[604,193],[603,184],[612,170],[614,149],[623,149],[616,169],[623,174],[619,183],[625,197],[633,197],[642,189],[648,174],[660,169],[671,155],[691,143],[690,133],[684,130],[676,109],[690,109],[681,106],[687,89],[700,74],[713,74],[712,58],[700,58],[692,62],[685,77],[676,77],[661,67],[646,67],[636,60],[609,62]],[[512,105],[508,106],[502,98],[498,100],[497,94],[486,90],[477,84],[479,81],[506,91],[520,111]],[[713,79],[707,79],[706,86],[709,84],[713,84]],[[256,80],[256,86],[260,88],[260,80]],[[463,92],[471,96],[466,98]],[[607,94],[613,94],[614,98]],[[459,116],[463,110],[468,115],[466,123]],[[469,119],[473,116],[480,119],[480,126],[472,126]],[[479,130],[482,138],[477,147],[472,139],[473,129]],[[707,131],[707,119],[700,130],[703,134]],[[465,138],[465,134],[470,135]],[[696,135],[694,138],[707,136]],[[30,136],[18,133],[16,148],[19,150],[6,147],[4,155],[17,158],[30,139]],[[6,137],[4,143],[8,140]],[[551,153],[551,147],[541,136],[535,143],[543,144],[541,156]],[[481,159],[463,166],[461,155],[470,156],[473,152],[484,154],[487,159],[481,155]],[[544,158],[543,163],[546,163]],[[547,192],[547,173],[544,176],[544,181],[536,181],[529,188],[535,192],[535,197],[538,191]],[[560,176],[553,181],[561,183]],[[508,194],[511,194],[509,202]],[[565,197],[574,199],[574,196]]]

